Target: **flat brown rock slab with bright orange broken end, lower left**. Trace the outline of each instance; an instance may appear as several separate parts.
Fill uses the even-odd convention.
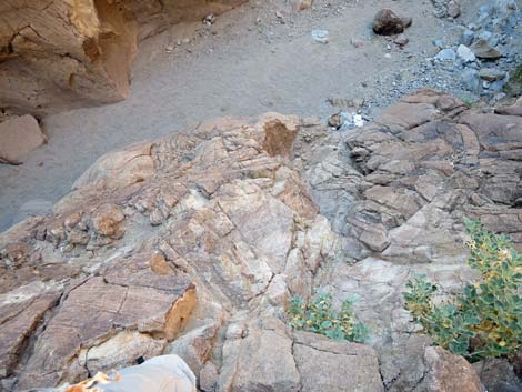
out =
[[[144,278],[145,279],[145,278]],[[163,289],[162,281],[169,279],[170,288]],[[140,283],[142,282],[142,283]],[[34,345],[34,354],[29,359],[26,370],[19,378],[18,388],[56,384],[60,380],[78,381],[87,375],[86,368],[78,366],[77,356],[84,348],[94,348],[81,356],[90,371],[104,369],[106,365],[131,364],[135,354],[148,352],[151,356],[161,353],[160,341],[147,336],[137,349],[135,341],[127,335],[114,335],[118,329],[135,329],[137,333],[155,334],[172,340],[179,331],[177,319],[190,314],[194,305],[184,312],[173,309],[193,296],[193,287],[185,280],[152,277],[147,285],[144,280],[126,282],[127,285],[112,283],[111,275],[92,278],[73,289],[58,313],[47,324]],[[152,285],[155,283],[155,287]],[[189,300],[190,301],[190,300]],[[139,336],[139,335],[138,335]],[[110,342],[116,339],[114,342]],[[126,351],[119,350],[114,358],[111,346],[127,341]],[[144,349],[145,345],[152,344]],[[158,345],[160,344],[160,345]],[[164,344],[164,343],[163,343]],[[102,368],[97,368],[97,364]]]

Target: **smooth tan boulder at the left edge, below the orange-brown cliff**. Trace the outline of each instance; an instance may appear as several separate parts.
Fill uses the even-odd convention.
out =
[[[0,162],[20,164],[23,155],[46,142],[38,121],[29,114],[0,122]]]

